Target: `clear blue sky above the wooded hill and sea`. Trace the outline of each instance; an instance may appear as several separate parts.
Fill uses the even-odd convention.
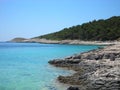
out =
[[[0,0],[0,41],[120,16],[120,0]]]

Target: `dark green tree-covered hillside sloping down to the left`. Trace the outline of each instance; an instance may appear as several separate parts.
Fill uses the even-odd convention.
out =
[[[114,16],[106,20],[94,20],[35,38],[50,40],[116,40],[120,38],[120,16]]]

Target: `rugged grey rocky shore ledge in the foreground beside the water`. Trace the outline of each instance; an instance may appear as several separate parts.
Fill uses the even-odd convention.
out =
[[[67,90],[120,90],[120,44],[49,61],[56,67],[76,71],[72,76],[59,76]]]

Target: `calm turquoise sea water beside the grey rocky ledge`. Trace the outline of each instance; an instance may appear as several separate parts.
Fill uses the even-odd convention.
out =
[[[0,90],[64,90],[56,78],[72,72],[49,60],[96,49],[94,45],[0,43]]]

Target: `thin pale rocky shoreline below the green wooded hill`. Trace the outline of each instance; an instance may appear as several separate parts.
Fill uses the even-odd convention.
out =
[[[117,41],[82,41],[82,40],[47,40],[47,39],[13,39],[8,42],[18,43],[44,43],[44,44],[76,44],[76,45],[114,45]]]

